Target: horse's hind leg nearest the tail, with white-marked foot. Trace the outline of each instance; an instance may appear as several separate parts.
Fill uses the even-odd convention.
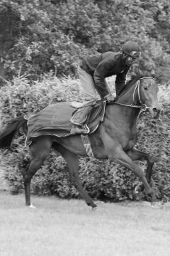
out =
[[[40,169],[49,154],[52,142],[50,138],[38,137],[33,144],[30,145],[30,155],[32,159],[28,170],[23,172],[23,183],[25,188],[26,206],[30,206],[30,181],[33,175]]]

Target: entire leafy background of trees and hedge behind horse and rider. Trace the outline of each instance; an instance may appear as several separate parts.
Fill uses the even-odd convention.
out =
[[[157,122],[147,112],[137,122],[137,147],[159,161],[152,186],[169,201],[169,80],[170,3],[168,0],[2,0],[0,3],[0,128],[21,114],[41,110],[52,102],[83,100],[77,64],[87,54],[118,51],[125,41],[139,43],[142,58],[131,74],[155,73],[162,114]],[[108,79],[114,91],[114,78]],[[19,131],[9,151],[1,150],[11,193],[23,191],[21,171],[29,162],[25,137]],[[145,170],[145,162],[141,162]],[[131,171],[108,161],[80,158],[81,183],[93,198],[137,199],[140,183]],[[61,156],[51,152],[32,181],[32,193],[77,198]],[[145,193],[142,198],[148,199]]]

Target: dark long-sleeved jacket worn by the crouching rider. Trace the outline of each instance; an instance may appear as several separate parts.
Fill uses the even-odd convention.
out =
[[[125,86],[125,78],[129,70],[129,67],[123,63],[122,53],[113,52],[89,55],[81,60],[80,67],[94,77],[96,90],[101,97],[109,94],[105,78],[116,75],[115,91],[118,95],[118,92]]]

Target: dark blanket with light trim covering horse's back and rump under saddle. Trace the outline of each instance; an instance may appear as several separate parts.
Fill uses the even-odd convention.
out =
[[[103,121],[106,102],[91,110],[88,127],[90,133],[94,132],[98,124]],[[55,135],[57,137],[67,137],[72,129],[70,119],[77,109],[70,106],[69,102],[60,102],[45,107],[36,114],[31,114],[28,119],[28,134],[26,137],[26,146],[31,144],[33,137],[42,135]]]

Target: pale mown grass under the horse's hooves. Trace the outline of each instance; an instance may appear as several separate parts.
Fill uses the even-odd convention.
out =
[[[0,192],[1,256],[170,255],[170,208],[149,203],[103,203]]]

